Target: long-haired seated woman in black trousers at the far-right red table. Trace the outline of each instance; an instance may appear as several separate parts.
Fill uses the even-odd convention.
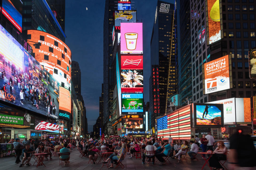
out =
[[[217,148],[213,151],[213,154],[211,158],[209,159],[210,167],[214,167],[213,169],[220,169],[223,170],[223,167],[219,163],[219,160],[226,160],[227,156],[227,147],[225,147],[223,141],[217,142]]]

